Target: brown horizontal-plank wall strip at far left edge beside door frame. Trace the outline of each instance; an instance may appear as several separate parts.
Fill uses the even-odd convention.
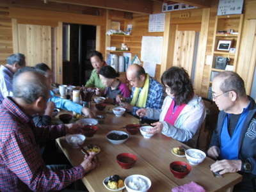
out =
[[[12,19],[9,9],[0,6],[0,64],[5,64],[6,58],[12,53]]]

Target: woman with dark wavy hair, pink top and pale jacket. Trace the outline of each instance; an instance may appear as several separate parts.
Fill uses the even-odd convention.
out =
[[[161,76],[167,96],[161,109],[142,108],[138,116],[159,119],[151,124],[150,132],[162,134],[196,147],[198,128],[204,122],[205,107],[201,97],[195,95],[189,75],[180,67],[171,67]]]

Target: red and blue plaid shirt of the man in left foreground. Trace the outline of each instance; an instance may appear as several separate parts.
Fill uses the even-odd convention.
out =
[[[0,104],[0,191],[50,191],[81,179],[83,167],[49,170],[38,143],[65,134],[64,125],[35,127],[10,97]]]

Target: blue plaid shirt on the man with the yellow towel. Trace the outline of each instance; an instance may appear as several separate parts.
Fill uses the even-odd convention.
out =
[[[133,97],[135,88],[132,87],[132,94],[131,99]],[[142,88],[140,88],[141,92]],[[149,88],[148,88],[148,97],[145,108],[152,108],[152,109],[161,109],[164,100],[164,89],[163,85],[157,82],[152,77],[149,77]],[[139,93],[140,94],[140,93]],[[138,96],[139,97],[139,96]],[[136,106],[132,108],[132,115],[136,115],[136,111],[140,109]]]

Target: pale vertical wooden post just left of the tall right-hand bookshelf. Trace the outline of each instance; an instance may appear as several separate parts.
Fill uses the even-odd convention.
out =
[[[196,71],[195,71],[195,82],[194,88],[196,94],[200,94],[202,88],[203,74],[204,74],[204,63],[205,63],[205,53],[207,47],[207,36],[209,31],[209,20],[210,20],[210,8],[204,8],[202,12],[202,23],[201,31],[198,42],[198,53],[196,61]]]

